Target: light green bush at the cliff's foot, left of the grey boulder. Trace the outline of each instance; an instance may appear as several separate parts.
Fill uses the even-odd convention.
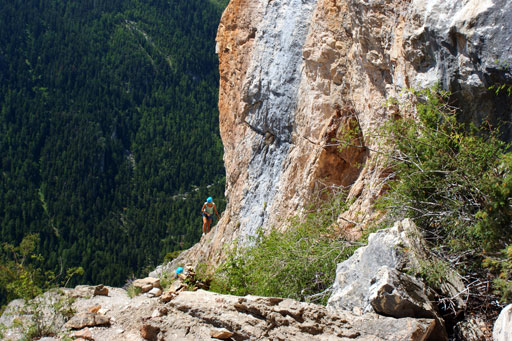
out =
[[[233,295],[278,296],[326,302],[336,265],[356,249],[332,236],[332,225],[345,208],[335,196],[303,216],[286,232],[262,231],[246,244],[235,243],[213,276],[210,289]]]

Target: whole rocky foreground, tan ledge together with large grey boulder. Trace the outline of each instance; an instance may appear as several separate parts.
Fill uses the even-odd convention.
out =
[[[464,316],[466,290],[455,272],[437,288],[407,274],[432,257],[427,252],[410,220],[372,234],[338,265],[327,307],[201,290],[190,267],[163,289],[156,277],[168,276],[160,267],[132,283],[133,298],[102,285],[58,289],[27,305],[11,302],[0,324],[6,340],[21,339],[34,324],[39,335],[51,335],[46,340],[512,340],[512,305],[493,327]],[[451,309],[440,309],[440,299]]]

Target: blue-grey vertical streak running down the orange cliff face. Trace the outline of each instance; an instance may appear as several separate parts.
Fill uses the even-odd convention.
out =
[[[247,138],[253,144],[239,212],[242,239],[266,224],[281,191],[302,77],[302,47],[316,0],[262,1],[261,6],[265,14],[255,27],[241,93],[240,120],[250,127]]]

